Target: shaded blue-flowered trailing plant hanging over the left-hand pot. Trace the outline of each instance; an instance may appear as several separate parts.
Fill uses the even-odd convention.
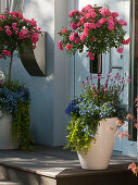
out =
[[[11,82],[5,78],[0,83],[0,110],[3,114],[12,115],[12,136],[23,150],[32,148],[34,141],[29,126],[30,97],[28,89],[18,81]]]

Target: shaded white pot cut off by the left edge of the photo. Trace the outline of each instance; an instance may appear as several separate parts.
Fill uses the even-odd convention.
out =
[[[0,111],[0,149],[16,149],[17,141],[12,139],[12,115]]]

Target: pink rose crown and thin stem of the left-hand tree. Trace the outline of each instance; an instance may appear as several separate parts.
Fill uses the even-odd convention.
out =
[[[0,59],[10,58],[9,83],[11,81],[11,67],[13,52],[24,47],[36,48],[36,42],[41,34],[37,22],[26,20],[20,12],[8,12],[0,14]]]

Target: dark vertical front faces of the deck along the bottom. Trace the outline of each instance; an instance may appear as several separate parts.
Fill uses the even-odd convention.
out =
[[[55,177],[37,174],[26,169],[0,165],[0,172],[9,174],[9,181],[0,185],[138,185],[138,177],[127,171],[128,164],[110,165],[106,170],[91,171],[80,168],[65,169]],[[2,175],[5,175],[3,173]],[[5,178],[8,176],[4,176]],[[20,183],[12,183],[20,182]]]

